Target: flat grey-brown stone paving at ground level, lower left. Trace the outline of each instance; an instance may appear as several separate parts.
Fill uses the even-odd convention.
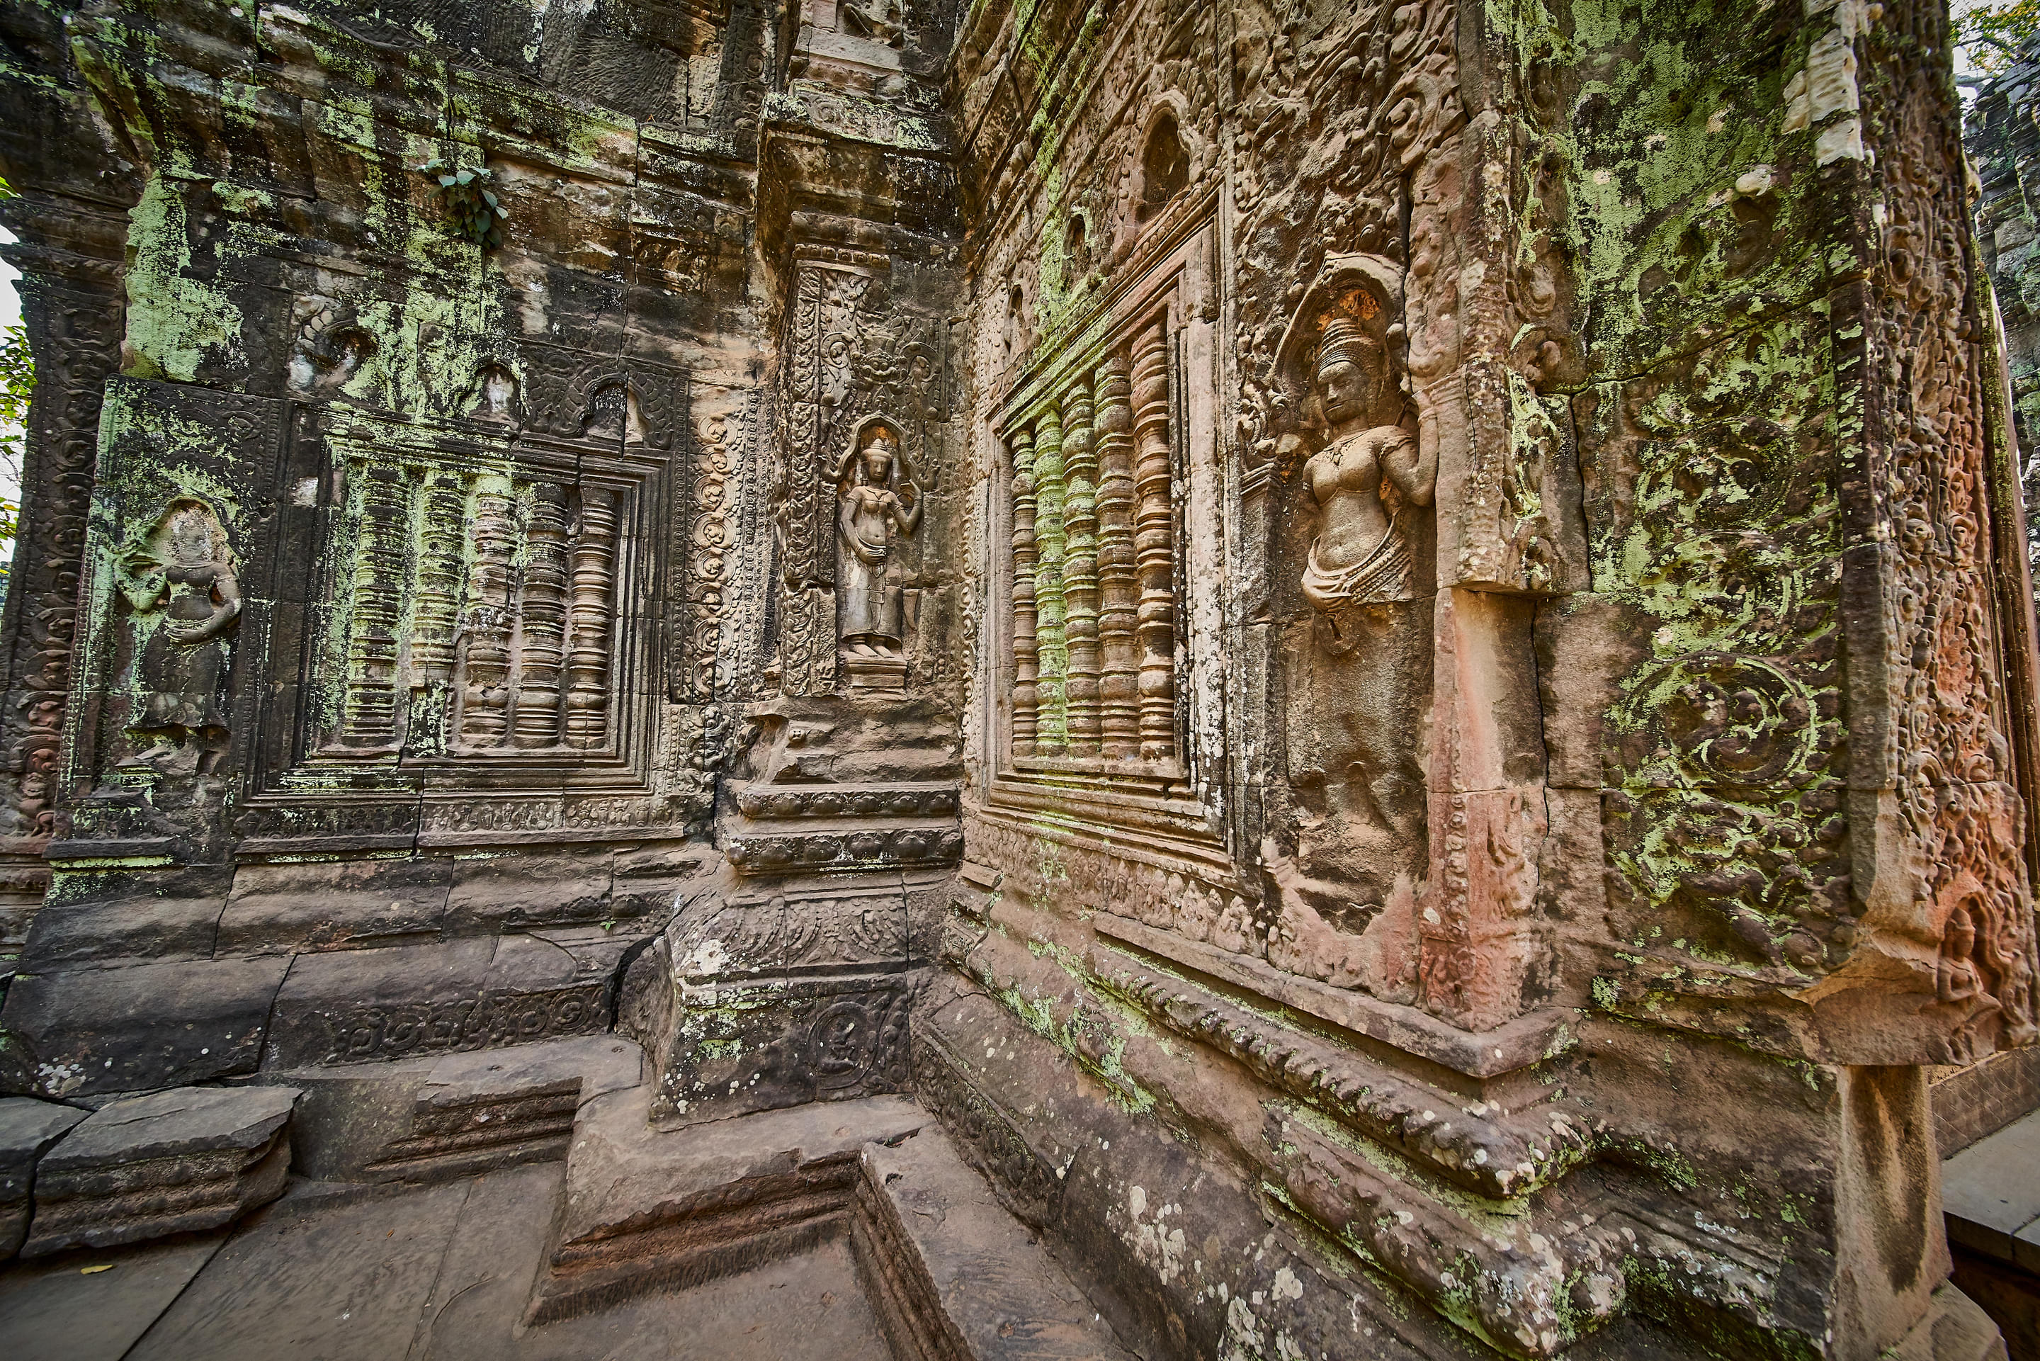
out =
[[[881,1361],[843,1241],[561,1322],[518,1318],[565,1167],[424,1188],[298,1183],[228,1232],[0,1273],[0,1355],[37,1361]]]

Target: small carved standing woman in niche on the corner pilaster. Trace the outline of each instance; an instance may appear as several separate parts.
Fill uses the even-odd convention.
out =
[[[845,665],[898,667],[902,657],[904,592],[887,575],[894,543],[920,526],[920,488],[906,473],[900,435],[889,424],[871,424],[857,447],[836,465],[836,635]]]

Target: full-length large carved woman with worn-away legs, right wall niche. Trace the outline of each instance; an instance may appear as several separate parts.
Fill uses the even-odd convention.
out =
[[[1285,547],[1302,559],[1287,571],[1304,606],[1281,649],[1291,841],[1265,857],[1283,865],[1285,904],[1269,959],[1397,998],[1412,981],[1401,943],[1428,845],[1432,608],[1422,555],[1438,475],[1410,420],[1399,312],[1395,261],[1334,255],[1279,351],[1291,410],[1316,416],[1281,443],[1299,473],[1297,510],[1314,508],[1316,524],[1297,516]]]

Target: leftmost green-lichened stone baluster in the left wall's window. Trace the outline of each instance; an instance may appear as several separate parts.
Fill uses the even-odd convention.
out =
[[[404,616],[404,545],[410,528],[408,469],[349,467],[355,488],[359,539],[355,541],[353,594],[347,631],[347,700],[341,706],[341,745],[390,747],[396,743],[398,655]]]

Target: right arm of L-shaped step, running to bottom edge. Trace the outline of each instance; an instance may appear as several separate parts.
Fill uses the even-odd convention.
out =
[[[902,1361],[1132,1361],[940,1126],[859,1153],[857,1261]]]

